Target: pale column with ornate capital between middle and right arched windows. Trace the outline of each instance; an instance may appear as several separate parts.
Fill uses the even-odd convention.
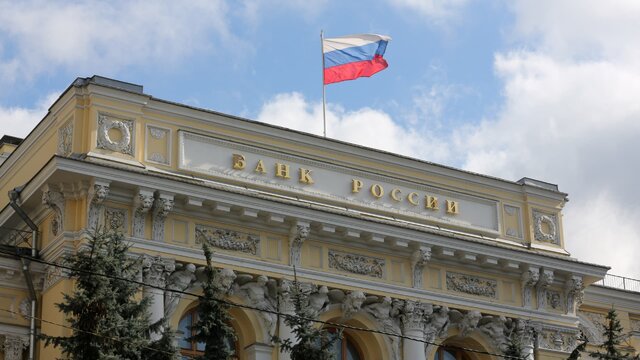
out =
[[[425,339],[425,316],[423,304],[406,301],[402,316],[402,334],[414,339]],[[403,360],[426,360],[425,343],[415,340],[402,339]]]

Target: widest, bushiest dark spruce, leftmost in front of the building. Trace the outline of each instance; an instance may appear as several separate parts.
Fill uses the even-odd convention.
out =
[[[141,268],[128,250],[121,233],[97,230],[88,247],[65,258],[75,290],[56,306],[74,330],[70,336],[43,336],[45,345],[60,347],[71,360],[161,358],[149,346],[149,299],[137,300],[140,286],[126,280],[135,279]],[[175,359],[172,346],[162,351]]]

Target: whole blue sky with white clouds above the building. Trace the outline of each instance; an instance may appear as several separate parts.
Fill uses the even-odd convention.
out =
[[[0,135],[76,77],[322,134],[320,31],[389,35],[327,136],[569,193],[572,256],[640,278],[640,1],[0,0]]]

